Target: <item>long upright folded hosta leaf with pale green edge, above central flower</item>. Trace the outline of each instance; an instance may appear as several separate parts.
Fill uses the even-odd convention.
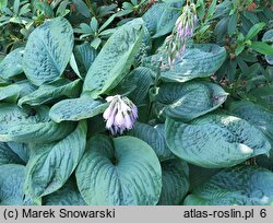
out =
[[[84,81],[93,97],[114,89],[128,73],[139,51],[143,21],[135,19],[119,27],[104,45]]]

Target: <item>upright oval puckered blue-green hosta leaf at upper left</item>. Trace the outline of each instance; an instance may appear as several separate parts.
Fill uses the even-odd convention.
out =
[[[64,71],[73,50],[73,30],[64,17],[45,22],[28,37],[23,70],[35,85],[58,79]]]

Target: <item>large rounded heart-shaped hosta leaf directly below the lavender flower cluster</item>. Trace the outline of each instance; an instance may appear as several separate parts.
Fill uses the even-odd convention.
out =
[[[149,144],[133,137],[91,138],[75,175],[92,206],[149,206],[161,196],[159,162]]]

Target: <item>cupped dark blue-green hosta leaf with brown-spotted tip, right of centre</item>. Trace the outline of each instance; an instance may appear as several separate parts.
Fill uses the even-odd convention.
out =
[[[182,121],[216,109],[226,98],[225,91],[210,82],[164,83],[156,95],[163,105],[159,114]]]

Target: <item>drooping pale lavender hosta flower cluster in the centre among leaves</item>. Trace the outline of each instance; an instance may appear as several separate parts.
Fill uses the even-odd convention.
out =
[[[126,96],[116,95],[106,98],[110,105],[104,111],[106,128],[115,136],[132,129],[138,118],[138,107]]]

